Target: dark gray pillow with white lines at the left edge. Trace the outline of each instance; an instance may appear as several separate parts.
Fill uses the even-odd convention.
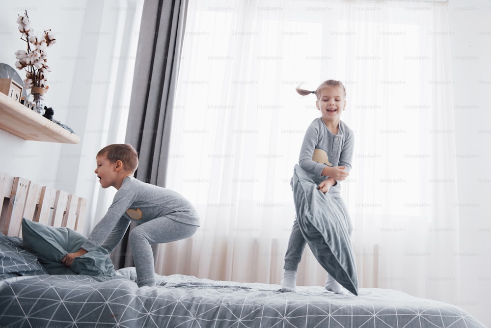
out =
[[[40,274],[47,272],[37,256],[22,248],[22,240],[0,234],[0,279]]]

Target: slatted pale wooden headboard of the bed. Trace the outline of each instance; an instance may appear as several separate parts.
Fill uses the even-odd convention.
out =
[[[22,218],[79,232],[86,199],[0,172],[0,231],[21,237]]]

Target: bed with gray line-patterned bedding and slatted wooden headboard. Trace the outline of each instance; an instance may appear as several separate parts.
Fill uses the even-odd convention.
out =
[[[1,178],[0,174],[4,222],[7,214],[16,213],[11,207],[21,199],[17,191],[12,193],[15,178],[5,174]],[[28,192],[22,197],[27,199]],[[32,206],[42,208],[42,198],[31,197],[35,199]],[[74,220],[68,219],[66,207],[51,207],[51,219],[37,224],[51,226],[57,216],[60,226],[77,227],[83,209],[78,199],[72,205],[79,209]],[[24,201],[24,208],[27,204]],[[24,221],[36,222],[38,210],[32,213]],[[10,217],[8,221],[7,230],[17,233],[7,236],[7,225],[2,225],[0,327],[485,327],[457,306],[380,288],[359,288],[358,296],[337,295],[317,286],[279,293],[275,284],[181,274],[156,275],[157,287],[138,288],[134,268],[102,275],[48,274],[37,252],[25,249],[23,219]]]

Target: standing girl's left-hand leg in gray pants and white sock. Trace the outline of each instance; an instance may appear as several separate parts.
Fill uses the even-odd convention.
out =
[[[285,254],[285,265],[283,269],[283,279],[281,280],[282,292],[295,292],[297,285],[297,270],[302,258],[303,249],[306,241],[300,231],[299,222],[295,219],[293,223],[290,239],[288,240],[288,248]]]

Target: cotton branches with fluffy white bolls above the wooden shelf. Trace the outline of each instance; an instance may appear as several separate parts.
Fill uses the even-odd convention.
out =
[[[47,89],[46,74],[51,72],[50,67],[46,64],[46,48],[55,44],[56,39],[51,33],[51,29],[44,31],[43,36],[34,35],[34,30],[30,27],[27,11],[24,16],[17,18],[19,31],[22,33],[21,40],[26,41],[27,50],[15,52],[17,61],[15,67],[26,70],[26,80],[24,87],[26,89],[42,88]]]

